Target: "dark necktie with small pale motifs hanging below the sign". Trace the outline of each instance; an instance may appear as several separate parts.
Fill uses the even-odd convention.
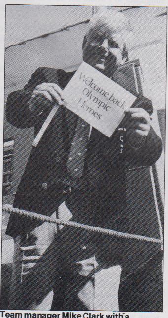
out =
[[[67,170],[73,178],[80,178],[83,174],[89,130],[90,125],[79,117],[66,163]]]

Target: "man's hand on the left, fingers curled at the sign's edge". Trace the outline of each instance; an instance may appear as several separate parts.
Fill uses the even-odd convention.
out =
[[[58,103],[59,105],[64,104],[63,90],[55,83],[42,83],[40,85],[37,85],[30,99],[32,105],[33,99],[36,96],[44,98],[52,106],[55,103]]]

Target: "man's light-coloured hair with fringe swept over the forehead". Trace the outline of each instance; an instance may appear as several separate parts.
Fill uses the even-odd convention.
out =
[[[121,33],[126,53],[130,50],[134,41],[134,32],[130,22],[126,16],[118,11],[110,10],[103,13],[97,13],[90,19],[85,37],[91,33],[93,29],[110,31],[112,33]]]

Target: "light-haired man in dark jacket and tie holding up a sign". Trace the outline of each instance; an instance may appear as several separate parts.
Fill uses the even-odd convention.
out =
[[[83,60],[113,78],[117,67],[128,59],[132,38],[122,13],[97,14],[83,40]],[[120,124],[119,128],[126,129],[117,128],[110,138],[96,129],[89,134],[90,126],[64,107],[63,89],[73,74],[41,67],[23,90],[8,97],[7,120],[19,128],[34,126],[35,135],[53,105],[61,106],[38,146],[32,148],[14,206],[123,230],[125,161],[151,165],[162,150],[150,126],[152,104],[138,95]],[[75,152],[82,155],[74,166],[70,158]],[[15,240],[11,309],[118,310],[118,239],[14,215],[7,234]]]

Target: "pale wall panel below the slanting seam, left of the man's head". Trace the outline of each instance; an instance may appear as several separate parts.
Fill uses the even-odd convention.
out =
[[[67,69],[82,62],[82,41],[85,30],[86,24],[83,23],[64,32],[7,48],[5,98],[9,92],[23,88],[38,67]]]

